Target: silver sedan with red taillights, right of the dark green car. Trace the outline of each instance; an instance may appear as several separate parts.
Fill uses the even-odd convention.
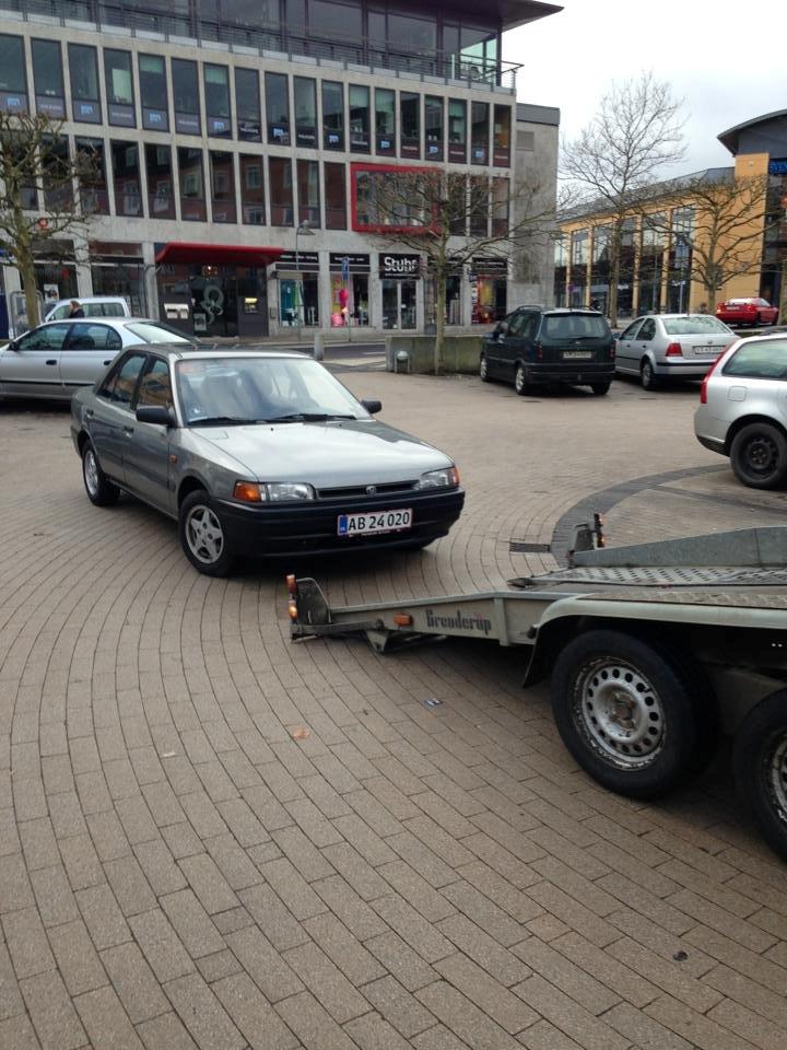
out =
[[[736,334],[709,314],[648,314],[618,337],[615,372],[645,389],[669,380],[701,380]]]

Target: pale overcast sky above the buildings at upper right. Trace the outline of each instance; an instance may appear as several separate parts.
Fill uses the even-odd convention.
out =
[[[688,152],[667,174],[732,163],[716,136],[787,109],[785,0],[555,0],[563,11],[506,33],[519,102],[557,106],[561,138],[592,118],[613,80],[653,69],[684,100]]]

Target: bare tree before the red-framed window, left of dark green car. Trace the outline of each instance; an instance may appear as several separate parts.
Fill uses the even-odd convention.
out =
[[[390,249],[396,243],[425,257],[435,285],[434,371],[443,371],[446,285],[488,253],[526,268],[555,229],[552,194],[533,183],[438,170],[364,173],[359,214]]]

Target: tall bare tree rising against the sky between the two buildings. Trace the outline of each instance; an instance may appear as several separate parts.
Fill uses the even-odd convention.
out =
[[[563,147],[561,175],[571,182],[576,202],[610,219],[608,313],[613,325],[623,224],[641,211],[662,170],[683,158],[681,108],[668,83],[643,72],[613,84],[590,124]]]

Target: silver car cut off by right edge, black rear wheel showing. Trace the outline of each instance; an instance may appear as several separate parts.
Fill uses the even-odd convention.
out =
[[[703,380],[694,432],[729,456],[739,481],[775,489],[787,479],[787,334],[738,339]]]

